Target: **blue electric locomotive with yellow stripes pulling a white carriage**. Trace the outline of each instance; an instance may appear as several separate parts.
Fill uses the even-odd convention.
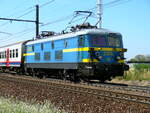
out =
[[[23,49],[24,71],[33,76],[103,82],[128,70],[121,34],[106,29],[77,26],[70,33],[28,41]]]

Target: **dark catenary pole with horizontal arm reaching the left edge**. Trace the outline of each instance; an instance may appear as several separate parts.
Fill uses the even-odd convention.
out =
[[[36,20],[23,20],[23,19],[12,19],[12,18],[0,18],[0,20],[9,20],[9,21],[20,21],[20,22],[32,22],[36,25],[36,38],[39,37],[39,5],[36,5]]]

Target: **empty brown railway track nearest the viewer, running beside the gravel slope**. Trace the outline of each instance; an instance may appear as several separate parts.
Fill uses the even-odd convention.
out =
[[[125,100],[140,104],[146,104],[150,105],[150,97],[147,96],[141,96],[141,95],[135,95],[135,94],[128,94],[128,93],[119,93],[115,91],[109,91],[104,89],[91,89],[83,86],[77,86],[72,84],[63,84],[63,83],[56,83],[56,82],[49,82],[49,81],[43,81],[43,80],[34,80],[34,79],[27,79],[27,78],[19,78],[19,77],[2,77],[0,76],[1,80],[6,80],[9,82],[17,82],[17,83],[25,83],[28,85],[38,85],[48,88],[54,88],[54,89],[63,89],[65,91],[70,92],[76,92],[76,93],[84,93],[84,94],[90,94],[95,95],[98,97],[107,97],[112,99],[119,99],[119,100]]]

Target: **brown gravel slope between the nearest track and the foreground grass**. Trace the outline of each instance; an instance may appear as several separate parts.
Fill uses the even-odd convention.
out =
[[[50,100],[69,113],[150,113],[150,105],[1,79],[0,96],[41,103]]]

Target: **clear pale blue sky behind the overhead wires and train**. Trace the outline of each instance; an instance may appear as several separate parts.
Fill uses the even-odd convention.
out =
[[[120,32],[127,60],[138,54],[150,54],[150,0],[102,0],[102,27]],[[0,0],[1,18],[35,20],[35,5],[40,7],[40,31],[61,32],[77,10],[90,10],[88,22],[95,24],[97,0]],[[81,24],[83,16],[72,25]],[[0,20],[0,46],[35,37],[35,24]]]

